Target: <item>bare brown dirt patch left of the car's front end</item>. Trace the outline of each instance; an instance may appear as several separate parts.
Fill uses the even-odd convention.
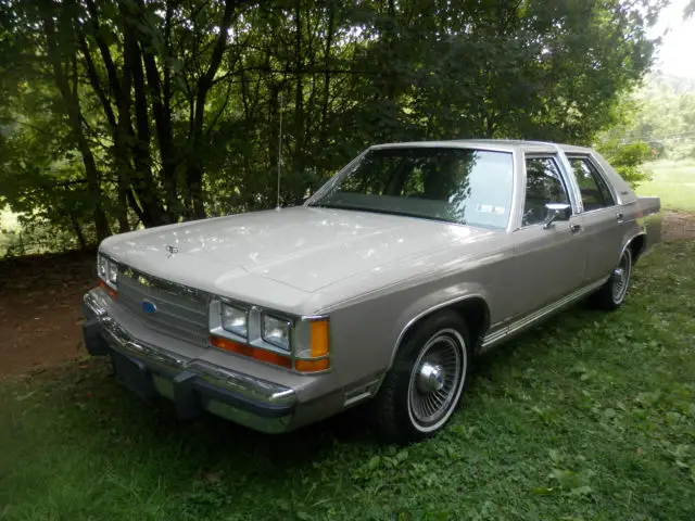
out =
[[[0,376],[81,356],[81,296],[94,253],[0,262]]]

